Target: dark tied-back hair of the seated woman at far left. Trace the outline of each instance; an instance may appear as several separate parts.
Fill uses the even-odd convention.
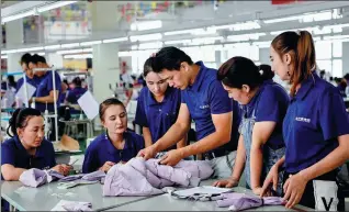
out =
[[[16,129],[25,127],[32,116],[42,116],[42,113],[38,110],[32,108],[16,109],[9,121],[7,134],[10,137],[18,135]],[[10,134],[10,131],[12,134]]]

